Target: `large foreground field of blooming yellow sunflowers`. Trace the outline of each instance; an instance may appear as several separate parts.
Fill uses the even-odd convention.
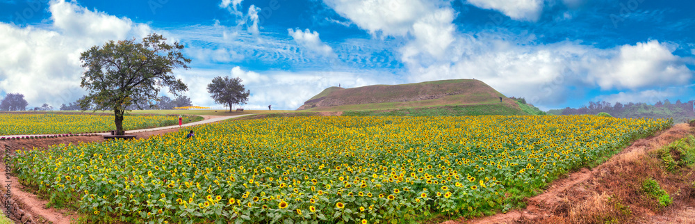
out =
[[[95,221],[409,223],[505,209],[671,127],[594,115],[230,120],[147,140],[17,151],[20,181]]]

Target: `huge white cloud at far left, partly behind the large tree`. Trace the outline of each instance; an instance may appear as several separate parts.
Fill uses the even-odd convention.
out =
[[[142,38],[151,30],[76,3],[49,4],[53,23],[45,28],[0,22],[0,89],[24,94],[29,106],[74,102],[85,93],[79,87],[82,51],[108,40]]]

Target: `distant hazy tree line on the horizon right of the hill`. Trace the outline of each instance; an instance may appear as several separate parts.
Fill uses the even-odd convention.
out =
[[[616,102],[597,101],[589,102],[589,105],[583,105],[580,108],[573,109],[566,107],[565,109],[550,110],[548,113],[555,115],[582,115],[582,114],[597,114],[601,112],[610,113],[616,118],[673,118],[676,122],[685,121],[695,118],[693,111],[693,102],[682,102],[678,99],[675,103],[671,103],[669,99],[656,102],[654,105],[646,103],[621,104]]]

